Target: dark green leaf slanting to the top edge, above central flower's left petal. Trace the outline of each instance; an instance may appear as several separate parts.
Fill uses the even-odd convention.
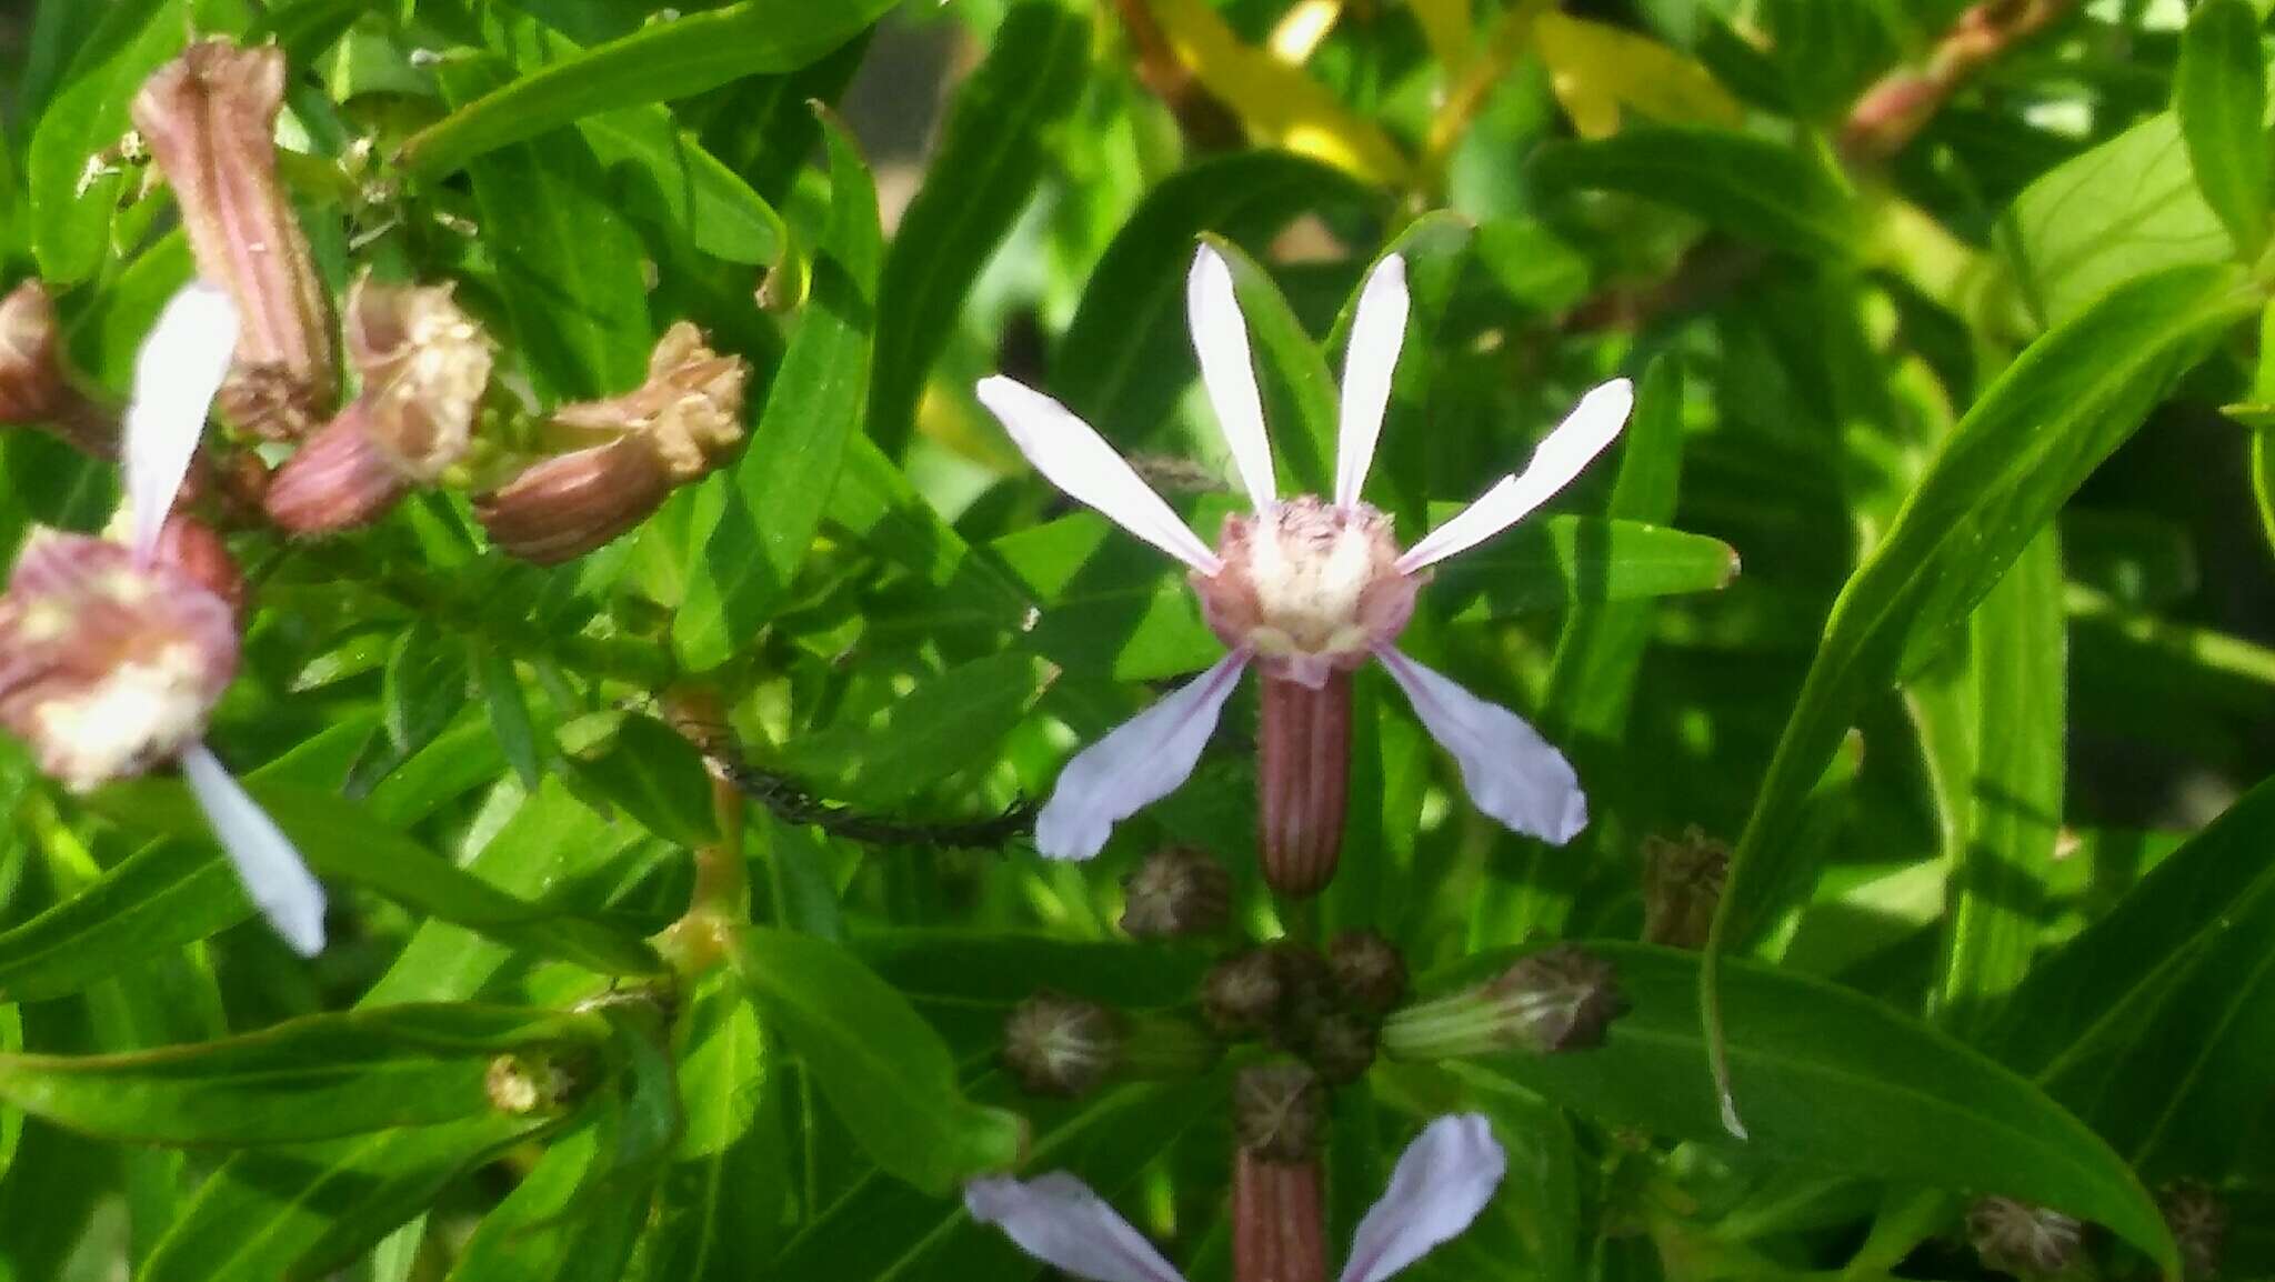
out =
[[[908,449],[926,373],[956,332],[965,294],[1035,194],[1046,137],[1081,98],[1090,27],[1058,0],[1015,5],[987,61],[956,93],[878,282],[869,435],[887,455]]]

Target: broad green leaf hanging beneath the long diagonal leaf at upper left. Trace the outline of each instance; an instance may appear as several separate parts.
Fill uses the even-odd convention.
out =
[[[471,102],[505,82],[485,55],[437,66],[444,98]],[[528,82],[521,82],[528,84]],[[526,137],[526,134],[516,134]],[[646,250],[582,137],[480,153],[466,166],[482,244],[523,360],[555,398],[630,392],[648,369]]]

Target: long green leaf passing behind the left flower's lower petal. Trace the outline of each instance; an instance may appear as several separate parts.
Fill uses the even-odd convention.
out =
[[[410,909],[603,975],[655,975],[664,968],[642,940],[614,927],[496,890],[487,881],[435,858],[416,840],[373,824],[364,808],[337,792],[262,781],[248,783],[248,790],[318,874],[359,881]],[[91,804],[121,824],[175,838],[212,840],[207,838],[205,811],[180,781],[116,783]],[[212,858],[218,858],[218,852]]]

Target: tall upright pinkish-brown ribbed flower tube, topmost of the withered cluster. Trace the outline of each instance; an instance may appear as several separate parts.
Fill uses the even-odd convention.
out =
[[[223,412],[293,439],[337,398],[330,301],[275,166],[284,52],[228,39],[189,46],[134,96],[134,128],[173,187],[198,273],[243,317]]]

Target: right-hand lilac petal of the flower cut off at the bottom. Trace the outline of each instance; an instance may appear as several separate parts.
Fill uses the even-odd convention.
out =
[[[1508,1170],[1492,1127],[1476,1113],[1438,1118],[1399,1154],[1383,1200],[1351,1234],[1342,1282],[1383,1282],[1454,1239],[1486,1209]]]

